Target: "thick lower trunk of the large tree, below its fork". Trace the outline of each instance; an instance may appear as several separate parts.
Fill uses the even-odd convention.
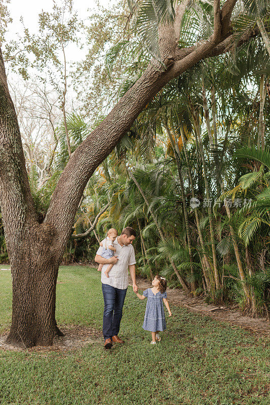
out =
[[[15,346],[51,345],[62,335],[55,320],[56,280],[61,259],[53,227],[24,227],[9,239],[12,274],[12,325],[7,342]]]

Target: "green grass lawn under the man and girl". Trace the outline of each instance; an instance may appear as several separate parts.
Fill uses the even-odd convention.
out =
[[[100,274],[61,267],[60,325],[102,327]],[[10,273],[0,272],[2,329],[11,316]],[[169,297],[168,297],[169,299]],[[226,323],[172,306],[162,342],[142,329],[145,302],[128,289],[121,323],[123,346],[97,338],[75,352],[0,350],[1,405],[242,405],[269,403],[269,347]]]

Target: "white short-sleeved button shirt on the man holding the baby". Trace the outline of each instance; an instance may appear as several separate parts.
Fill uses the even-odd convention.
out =
[[[114,240],[113,247],[116,249],[114,255],[117,256],[119,260],[109,271],[109,277],[105,276],[105,270],[109,264],[103,264],[101,270],[101,282],[120,290],[125,290],[129,285],[128,266],[136,264],[134,248],[131,244],[128,246],[121,246],[118,243],[118,238]],[[102,249],[102,246],[100,246],[97,251],[97,255],[101,255]]]

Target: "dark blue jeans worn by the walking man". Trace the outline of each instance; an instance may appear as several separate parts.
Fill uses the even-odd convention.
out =
[[[103,282],[101,284],[104,298],[103,336],[106,340],[119,333],[127,288],[120,290]]]

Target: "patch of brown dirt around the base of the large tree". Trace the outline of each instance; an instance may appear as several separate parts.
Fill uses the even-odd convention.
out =
[[[102,338],[101,331],[89,327],[68,325],[64,327],[59,326],[59,328],[65,336],[55,337],[52,346],[35,346],[26,350],[14,347],[10,344],[5,343],[8,337],[7,332],[0,335],[0,349],[12,351],[27,351],[28,353],[48,353],[52,351],[65,353],[78,350],[86,345],[89,345],[90,343],[95,343],[97,340]]]

